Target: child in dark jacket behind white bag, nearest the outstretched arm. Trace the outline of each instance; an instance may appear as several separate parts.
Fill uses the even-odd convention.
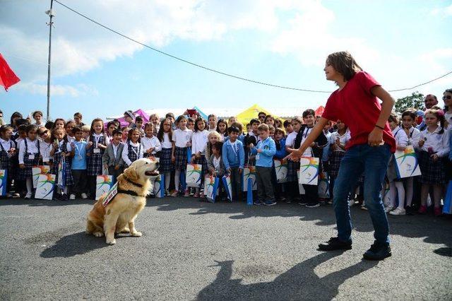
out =
[[[316,120],[316,112],[312,109],[305,110],[303,112],[303,122],[297,137],[295,138],[294,146],[299,148],[299,146],[306,140],[307,136],[314,129],[314,123]],[[323,153],[323,148],[328,144],[328,140],[323,132],[323,129],[316,140],[311,143],[311,145],[304,151],[303,157],[314,157],[319,158],[319,171],[322,170],[321,157]],[[292,150],[293,151],[293,150]],[[306,206],[307,208],[319,207],[319,189],[316,185],[303,184],[305,191],[304,197],[299,201],[299,204]]]

